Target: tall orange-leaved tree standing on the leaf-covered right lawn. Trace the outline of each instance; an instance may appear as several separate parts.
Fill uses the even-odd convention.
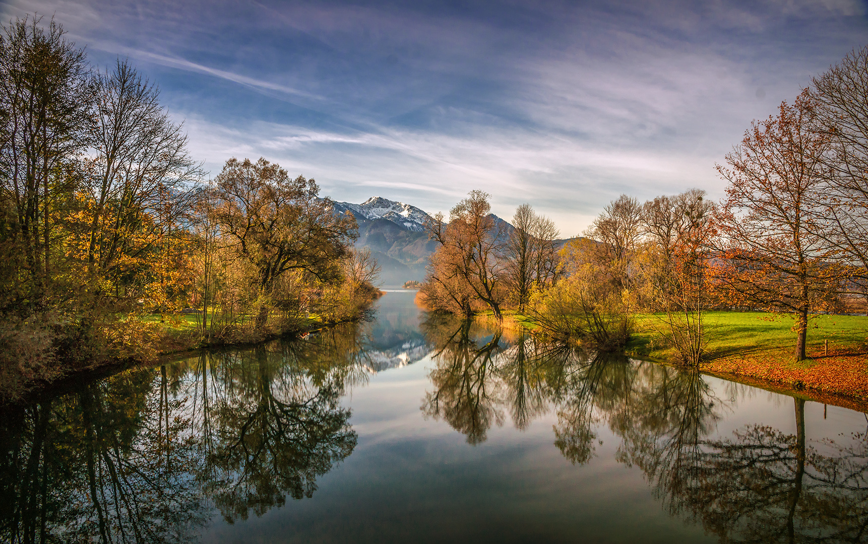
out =
[[[717,218],[722,302],[792,315],[799,361],[811,314],[832,309],[845,275],[824,233],[820,157],[829,141],[810,130],[814,111],[806,92],[782,102],[778,115],[753,122],[728,166],[717,167],[730,183]]]

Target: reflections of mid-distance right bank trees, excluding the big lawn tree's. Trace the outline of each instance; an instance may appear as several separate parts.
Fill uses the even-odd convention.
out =
[[[696,371],[637,364],[628,357],[543,343],[529,334],[507,342],[503,331],[431,316],[422,324],[434,346],[431,384],[422,410],[483,442],[509,412],[518,429],[554,408],[555,443],[571,462],[594,455],[595,427],[603,420],[624,438],[619,456],[654,444],[665,456],[695,447],[714,429],[726,403]],[[677,459],[676,459],[677,460]]]

